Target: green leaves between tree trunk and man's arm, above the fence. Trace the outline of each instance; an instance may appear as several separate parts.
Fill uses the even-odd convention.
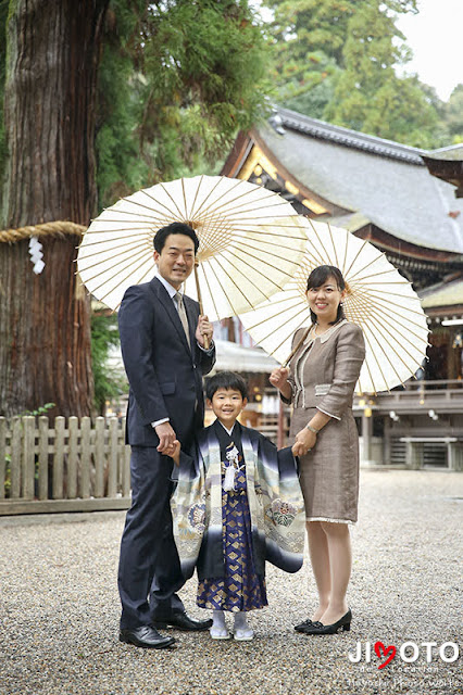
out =
[[[110,350],[120,344],[117,316],[93,314],[91,317],[91,367],[95,381],[95,406],[104,414],[109,399],[125,393],[127,382],[124,376],[109,366]]]

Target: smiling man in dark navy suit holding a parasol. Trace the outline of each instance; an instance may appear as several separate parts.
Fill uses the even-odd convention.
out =
[[[189,447],[203,426],[202,376],[215,362],[212,325],[199,305],[180,295],[191,274],[198,237],[182,223],[154,237],[157,273],[128,288],[118,312],[121,346],[129,381],[127,443],[132,446],[132,507],[121,542],[120,640],[164,648],[174,642],[157,628],[207,630],[175,593],[184,583],[172,533],[170,497],[174,442]],[[149,601],[148,601],[148,596]]]

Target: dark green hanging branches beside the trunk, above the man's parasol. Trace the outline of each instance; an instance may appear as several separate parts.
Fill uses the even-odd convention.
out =
[[[218,169],[264,111],[267,43],[245,0],[112,0],[99,79],[100,202]]]

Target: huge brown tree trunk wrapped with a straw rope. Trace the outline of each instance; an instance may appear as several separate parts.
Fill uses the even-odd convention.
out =
[[[11,0],[5,131],[5,229],[96,212],[95,100],[109,0]],[[89,300],[76,287],[78,238],[0,243],[0,413],[57,404],[92,410]]]

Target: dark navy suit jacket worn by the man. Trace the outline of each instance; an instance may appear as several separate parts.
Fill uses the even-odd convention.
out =
[[[215,350],[201,350],[195,338],[199,304],[184,296],[191,351],[168,292],[153,278],[129,287],[118,312],[124,366],[130,386],[126,441],[158,446],[151,422],[168,417],[183,445],[202,427],[202,376],[215,363]]]

